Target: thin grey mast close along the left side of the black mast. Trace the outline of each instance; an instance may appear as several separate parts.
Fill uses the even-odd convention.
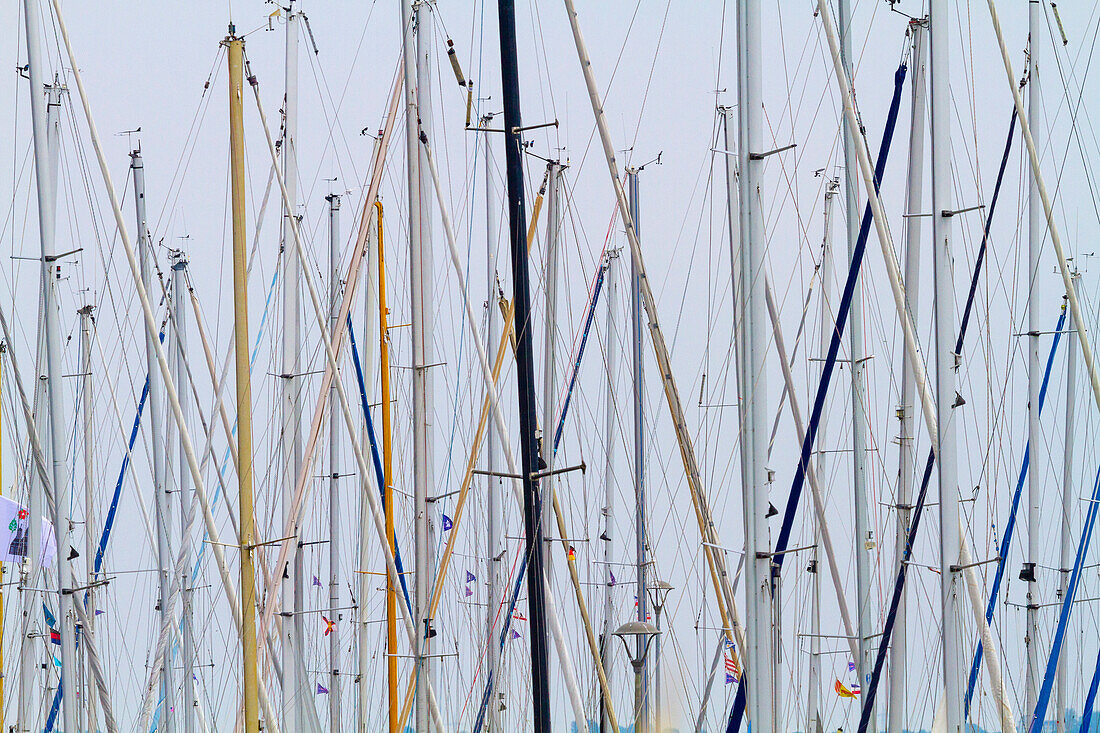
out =
[[[493,116],[486,114],[482,118],[481,127],[487,128]],[[482,143],[485,152],[485,342],[494,344],[499,340],[497,321],[494,314],[496,308],[496,252],[499,248],[499,226],[501,211],[497,193],[493,186],[493,135],[487,132],[482,133]],[[488,434],[485,439],[485,467],[492,473],[496,470],[497,449],[496,425],[490,423]],[[502,598],[505,583],[503,582],[503,569],[501,562],[504,560],[504,545],[502,544],[501,528],[504,526],[504,504],[501,501],[501,479],[494,475],[486,477],[486,547],[485,557],[488,558],[488,601],[485,605],[485,638],[488,645],[488,675],[495,680],[495,689],[501,687],[501,646],[496,643],[496,604]],[[499,693],[498,693],[499,697]],[[487,730],[488,733],[501,733],[501,705],[496,700],[488,702]]]

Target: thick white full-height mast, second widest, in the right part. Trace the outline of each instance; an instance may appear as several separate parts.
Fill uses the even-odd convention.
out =
[[[952,276],[952,107],[950,24],[948,0],[931,0],[928,11],[928,91],[932,109],[932,234],[935,267],[936,363],[936,469],[939,479],[939,589],[942,602],[942,655],[946,733],[963,733],[963,697],[958,655],[963,639],[958,630],[958,590],[963,576],[956,571],[961,546],[958,469],[956,466],[955,403],[955,283]]]

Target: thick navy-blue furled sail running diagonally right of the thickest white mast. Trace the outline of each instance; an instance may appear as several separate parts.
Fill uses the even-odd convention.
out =
[[[905,63],[894,72],[893,98],[890,100],[890,111],[887,113],[886,128],[882,130],[882,143],[879,146],[879,158],[875,165],[875,188],[878,190],[879,182],[886,173],[887,157],[890,153],[890,143],[893,140],[894,128],[898,124],[898,110],[901,109],[901,92],[905,84]],[[836,314],[836,328],[829,339],[828,353],[822,368],[821,381],[817,384],[817,393],[814,396],[814,407],[810,416],[810,426],[806,430],[805,439],[802,441],[802,455],[799,458],[798,468],[794,471],[794,481],[791,485],[791,493],[787,500],[787,508],[783,512],[783,526],[780,529],[779,538],[776,541],[776,567],[773,572],[778,575],[782,569],[783,553],[790,543],[791,530],[794,526],[794,515],[799,508],[799,500],[802,496],[802,488],[805,483],[806,467],[810,466],[810,458],[814,450],[814,439],[817,437],[817,427],[821,424],[822,412],[825,408],[825,397],[828,394],[829,382],[833,380],[833,371],[836,366],[837,354],[840,351],[840,338],[844,336],[845,326],[848,322],[848,313],[851,309],[851,300],[856,292],[856,282],[859,278],[860,265],[864,261],[864,253],[867,251],[867,238],[871,231],[871,207],[867,206],[864,211],[862,221],[859,223],[859,236],[856,238],[856,247],[851,252],[851,264],[848,267],[848,278],[844,284],[844,292],[840,296],[840,306]],[[745,714],[745,679],[749,672],[757,670],[745,669],[737,683],[737,697],[734,699],[734,707],[729,711],[729,720],[726,723],[726,733],[737,733],[741,726],[741,718]]]

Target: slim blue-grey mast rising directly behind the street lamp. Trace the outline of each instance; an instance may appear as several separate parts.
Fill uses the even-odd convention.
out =
[[[630,219],[634,221],[635,231],[641,236],[641,223],[639,220],[638,200],[638,171],[627,168],[626,172],[627,196],[630,199]],[[647,621],[648,615],[648,593],[646,591],[646,436],[645,436],[645,411],[644,401],[646,390],[644,383],[644,360],[642,340],[646,338],[641,324],[641,293],[638,284],[638,270],[631,263],[630,267],[630,376],[632,383],[634,397],[634,550],[635,550],[635,572],[637,573],[635,586],[635,605],[637,606],[638,621]],[[636,707],[634,716],[639,731],[646,733],[649,729],[649,696],[648,687],[648,665],[646,664],[645,650],[649,639],[638,636],[635,639],[636,655],[639,659],[635,665],[635,675],[639,679],[635,685],[641,690],[640,707]],[[637,702],[637,701],[636,701]]]

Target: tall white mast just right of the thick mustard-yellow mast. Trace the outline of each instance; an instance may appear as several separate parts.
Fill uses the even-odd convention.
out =
[[[283,102],[283,183],[286,201],[283,207],[280,248],[283,253],[283,333],[280,337],[280,401],[283,448],[283,518],[290,522],[295,482],[301,469],[301,341],[299,318],[301,307],[301,261],[292,242],[290,217],[298,206],[298,23],[301,13],[289,0],[286,13],[286,98]],[[296,527],[297,529],[297,527]],[[292,543],[290,571],[282,579],[283,642],[283,720],[288,729],[306,730],[302,705],[311,701],[305,680],[299,679],[302,645],[301,553]],[[310,702],[310,704],[312,704]]]

